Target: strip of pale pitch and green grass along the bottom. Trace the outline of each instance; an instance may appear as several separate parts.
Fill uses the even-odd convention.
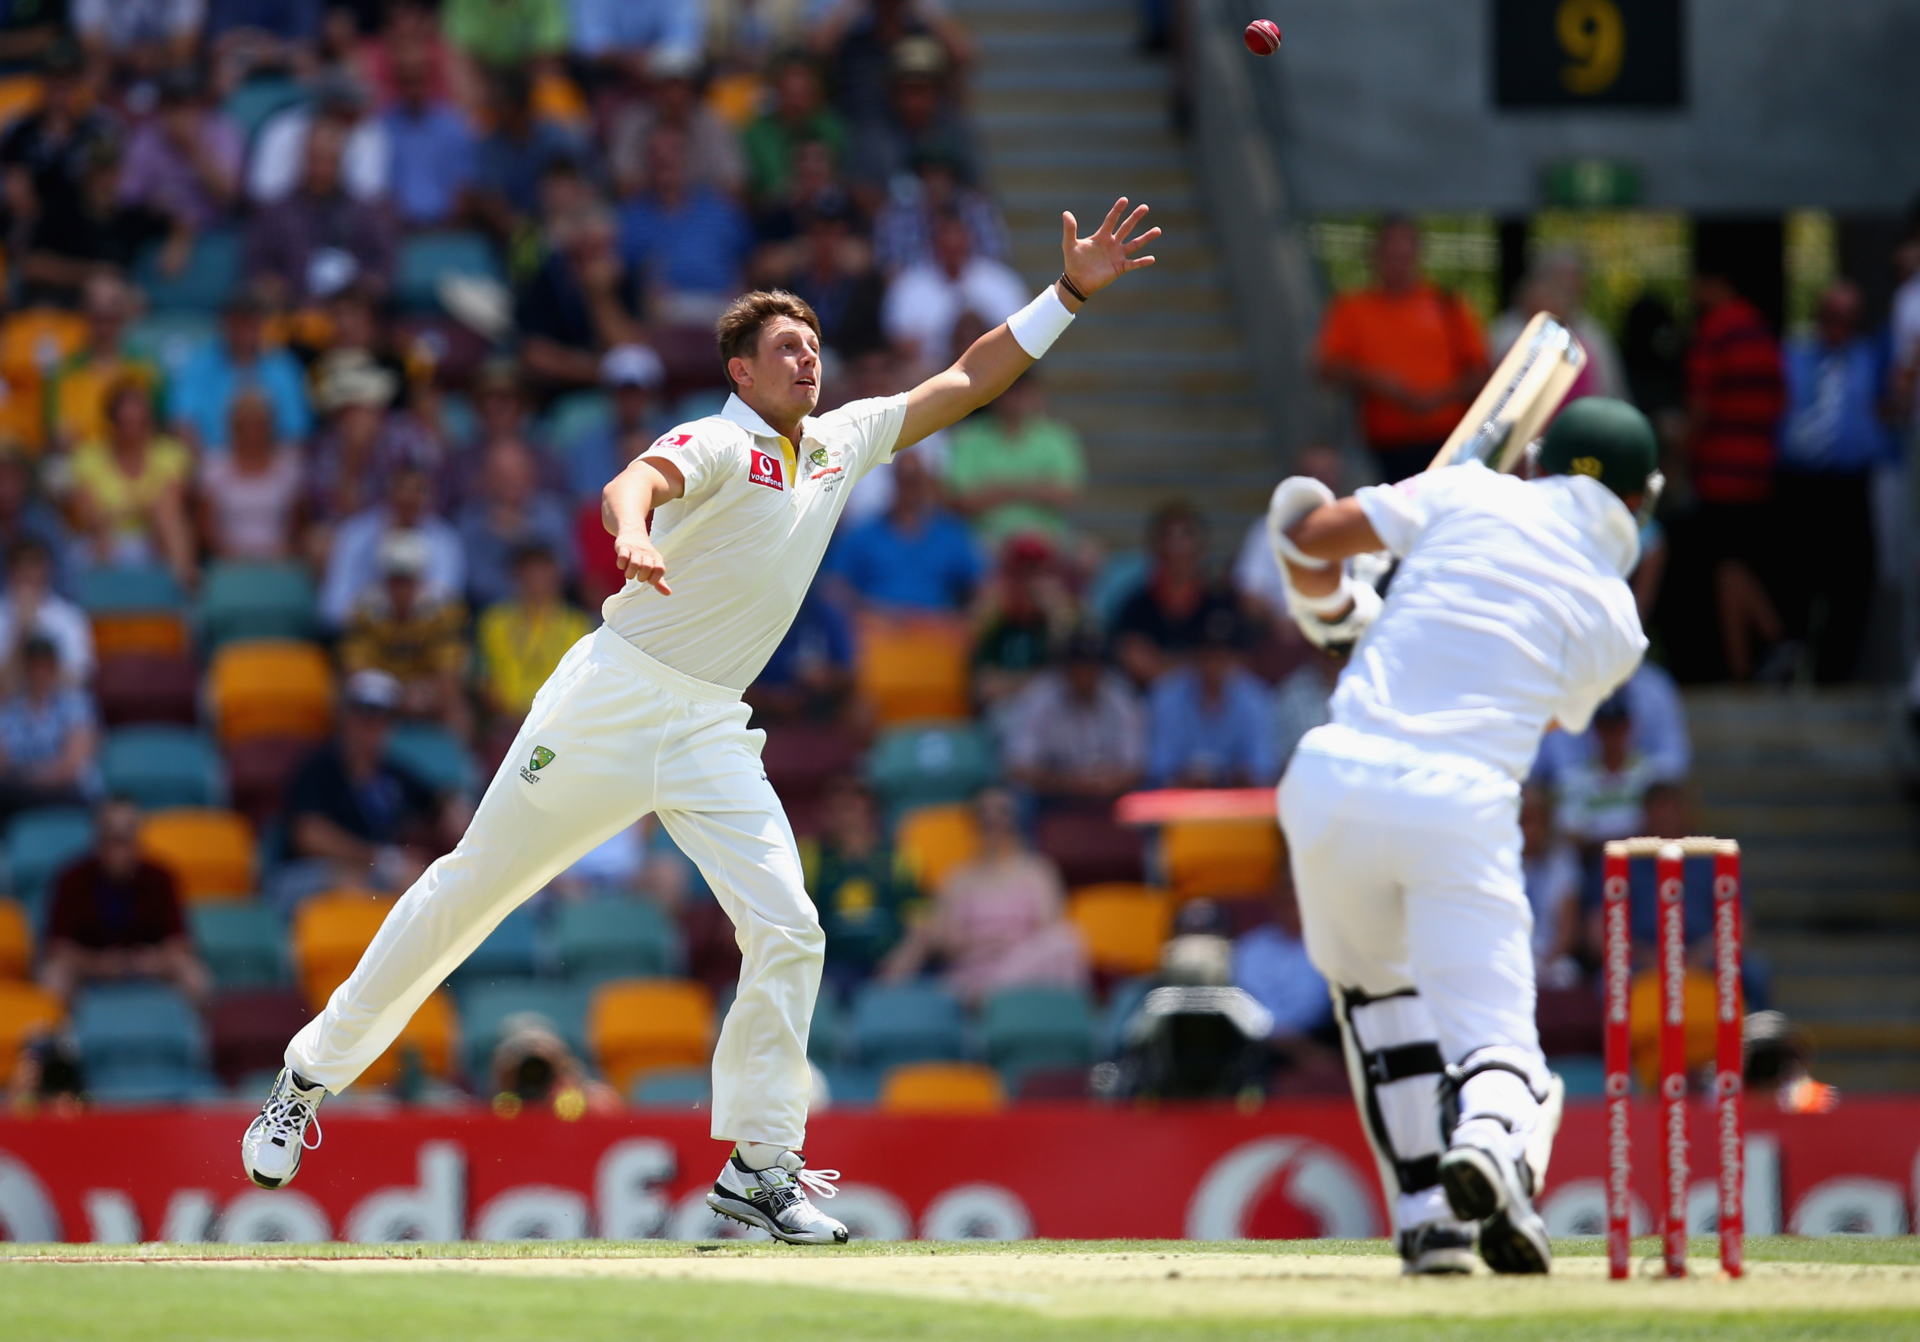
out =
[[[0,1338],[1920,1338],[1920,1242],[1759,1240],[1745,1281],[1398,1275],[1384,1242],[0,1246]]]

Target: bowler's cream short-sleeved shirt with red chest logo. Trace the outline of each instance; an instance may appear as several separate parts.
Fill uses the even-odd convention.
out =
[[[801,420],[795,447],[730,395],[718,415],[662,434],[641,455],[687,480],[653,513],[674,595],[630,580],[601,607],[607,628],[684,676],[751,685],[793,624],[847,493],[893,453],[904,422],[904,394],[851,401]]]

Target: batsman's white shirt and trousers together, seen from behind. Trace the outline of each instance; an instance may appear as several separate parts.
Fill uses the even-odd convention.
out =
[[[1356,497],[1400,568],[1281,779],[1308,954],[1342,989],[1415,989],[1407,1019],[1450,1064],[1505,1058],[1544,1089],[1519,779],[1548,722],[1582,730],[1645,651],[1634,518],[1594,480],[1478,465]]]

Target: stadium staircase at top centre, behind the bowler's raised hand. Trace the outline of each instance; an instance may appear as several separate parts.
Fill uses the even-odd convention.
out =
[[[1048,403],[1087,445],[1077,522],[1110,549],[1185,497],[1231,553],[1277,478],[1254,367],[1225,288],[1188,154],[1167,123],[1165,60],[1139,50],[1133,0],[956,0],[979,44],[973,127],[1006,211],[1014,265],[1060,275],[1060,211],[1087,228],[1116,196],[1167,234],[1154,269],[1102,294],[1046,357]]]

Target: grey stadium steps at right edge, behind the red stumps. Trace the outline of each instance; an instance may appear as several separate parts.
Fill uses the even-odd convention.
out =
[[[1920,810],[1882,687],[1692,691],[1697,820],[1740,839],[1749,945],[1841,1090],[1920,1089]]]

